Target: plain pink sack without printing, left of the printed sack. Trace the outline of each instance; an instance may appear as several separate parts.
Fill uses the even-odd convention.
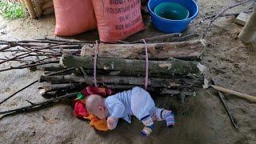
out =
[[[55,35],[72,36],[97,28],[91,0],[54,0]]]

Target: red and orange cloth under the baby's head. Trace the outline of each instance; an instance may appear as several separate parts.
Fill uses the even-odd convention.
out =
[[[90,126],[94,126],[94,128],[97,130],[109,130],[106,125],[106,119],[98,119],[94,115],[87,112],[85,101],[86,97],[88,97],[90,94],[98,94],[105,98],[112,93],[113,91],[108,88],[86,86],[86,88],[82,90],[81,93],[78,94],[78,97],[74,100],[74,115],[78,118],[89,119]]]

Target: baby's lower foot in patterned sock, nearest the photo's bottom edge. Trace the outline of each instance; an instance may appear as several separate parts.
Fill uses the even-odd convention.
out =
[[[147,115],[146,117],[141,119],[141,122],[144,125],[143,130],[141,131],[141,134],[143,137],[147,137],[150,135],[150,133],[152,132],[152,130],[154,129],[154,121],[153,119],[150,117],[150,114]]]

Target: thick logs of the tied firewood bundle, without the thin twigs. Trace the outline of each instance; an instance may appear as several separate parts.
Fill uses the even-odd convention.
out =
[[[150,43],[148,89],[155,94],[193,95],[194,88],[202,87],[198,66],[203,45],[198,40],[172,43]],[[42,75],[40,92],[47,97],[94,85],[95,44],[82,47],[81,54],[62,54],[59,64],[37,66],[37,70],[52,71],[74,68],[58,74]],[[114,90],[127,90],[145,85],[146,60],[144,44],[99,44],[97,82]]]

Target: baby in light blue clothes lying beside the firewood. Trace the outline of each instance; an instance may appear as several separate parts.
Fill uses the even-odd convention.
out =
[[[110,130],[117,126],[118,118],[130,123],[131,115],[134,115],[144,125],[141,132],[144,137],[149,136],[154,129],[154,120],[165,120],[167,127],[174,126],[172,111],[156,107],[150,94],[138,86],[107,98],[92,94],[86,98],[86,110],[100,119],[107,118]]]

